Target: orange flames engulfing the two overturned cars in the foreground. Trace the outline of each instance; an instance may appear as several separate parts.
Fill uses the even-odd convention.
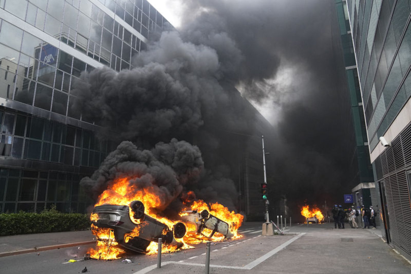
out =
[[[170,230],[172,230],[173,225],[177,223],[179,220],[170,220],[163,216],[159,216],[156,213],[156,209],[159,209],[164,206],[162,204],[162,197],[159,197],[155,191],[157,186],[150,185],[144,188],[138,188],[134,184],[129,184],[129,180],[134,178],[118,178],[111,185],[109,188],[104,190],[104,192],[99,196],[99,199],[95,206],[99,206],[102,204],[116,204],[116,205],[129,205],[130,202],[139,200],[144,204],[144,213],[152,218],[157,219],[157,221],[167,225]],[[234,211],[229,211],[226,207],[221,204],[215,203],[211,204],[210,207],[208,204],[203,202],[202,200],[196,200],[194,192],[189,191],[182,195],[183,204],[186,205],[185,210],[197,210],[201,212],[203,209],[207,209],[210,214],[213,216],[225,221],[229,225],[230,232],[234,235],[231,239],[238,239],[242,237],[241,235],[237,234],[238,228],[241,226],[242,220],[244,216],[241,214],[236,214]],[[190,207],[191,204],[191,207]],[[188,207],[188,208],[187,208]],[[211,209],[210,209],[211,208]],[[180,216],[183,216],[184,213],[180,213]],[[98,219],[98,214],[91,214],[90,220],[96,221]],[[130,210],[130,219],[139,224],[140,220],[134,219],[132,211]],[[198,244],[203,241],[222,241],[225,239],[224,235],[216,232],[213,237],[205,238],[205,239],[196,239],[189,237],[189,232],[195,233],[196,228],[194,225],[186,224],[187,227],[187,234],[182,239],[175,239],[176,241],[182,243],[182,247],[180,249],[186,248],[193,248],[189,246],[189,244]],[[141,228],[141,226],[140,226]],[[91,258],[96,259],[104,259],[104,260],[111,260],[120,258],[120,256],[124,251],[118,246],[118,243],[114,239],[113,231],[108,228],[97,228],[96,226],[92,225],[92,233],[97,236],[97,250],[91,249],[88,251],[90,253]],[[129,239],[133,237],[139,236],[139,228],[135,228],[132,232],[129,232],[125,235],[125,241],[128,242]],[[212,233],[211,230],[204,229],[204,235],[210,235]],[[147,254],[157,254],[158,243],[152,241],[150,245],[146,248]],[[169,253],[177,250],[177,246],[173,245],[162,245],[162,253]]]

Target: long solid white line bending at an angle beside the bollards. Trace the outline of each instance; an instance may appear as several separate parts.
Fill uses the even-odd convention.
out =
[[[301,233],[299,235],[297,235],[296,237],[293,237],[292,239],[289,239],[288,241],[286,241],[284,244],[277,246],[276,248],[274,248],[272,251],[269,251],[268,253],[262,255],[260,258],[250,262],[248,265],[243,266],[243,267],[236,267],[236,266],[230,266],[230,265],[210,265],[210,267],[216,267],[216,268],[229,268],[229,269],[245,269],[245,270],[250,270],[253,269],[254,267],[256,267],[257,265],[259,265],[261,262],[267,260],[268,258],[270,258],[272,255],[274,255],[275,253],[277,253],[278,251],[281,251],[284,247],[288,246],[289,244],[291,244],[293,241],[297,240],[298,238],[300,238],[301,236],[305,235],[305,233]],[[205,254],[205,253],[204,253]],[[177,265],[196,265],[196,266],[201,266],[201,267],[205,267],[204,264],[196,264],[196,263],[190,263],[190,262],[184,262],[184,261],[179,261],[179,262],[174,262],[174,261],[169,261],[169,262],[164,262],[162,263],[162,265],[168,265],[168,264],[177,264]],[[154,270],[157,268],[157,264],[156,265],[150,265],[148,267],[145,267],[137,272],[134,272],[134,274],[145,274],[147,272],[150,272],[151,270]]]

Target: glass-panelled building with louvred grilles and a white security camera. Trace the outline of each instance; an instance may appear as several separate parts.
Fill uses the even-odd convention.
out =
[[[346,0],[346,6],[383,235],[411,258],[411,1]]]

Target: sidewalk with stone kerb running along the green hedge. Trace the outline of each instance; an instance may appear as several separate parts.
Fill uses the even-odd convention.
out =
[[[94,242],[90,230],[0,236],[0,257]]]

